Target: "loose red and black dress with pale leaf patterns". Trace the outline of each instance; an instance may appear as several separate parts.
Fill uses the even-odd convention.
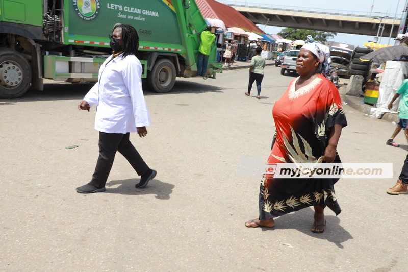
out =
[[[347,126],[336,86],[318,75],[307,86],[295,90],[298,78],[273,107],[276,132],[268,164],[317,162],[324,155],[330,127]],[[334,162],[341,162],[336,154]],[[260,220],[281,216],[309,206],[329,207],[341,212],[334,184],[338,179],[280,179],[263,176],[259,196]]]

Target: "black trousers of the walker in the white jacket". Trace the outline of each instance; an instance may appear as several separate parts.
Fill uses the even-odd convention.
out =
[[[130,133],[99,132],[99,157],[92,175],[92,185],[98,188],[105,187],[116,151],[119,151],[126,158],[139,176],[150,169],[135,149],[135,146],[130,142],[129,135]]]

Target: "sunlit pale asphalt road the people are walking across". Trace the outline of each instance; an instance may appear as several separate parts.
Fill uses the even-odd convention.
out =
[[[77,104],[91,85],[47,84],[0,100],[1,271],[404,271],[407,195],[391,196],[408,150],[402,133],[385,144],[390,122],[345,105],[343,162],[392,162],[393,179],[341,179],[342,213],[326,211],[314,234],[311,208],[249,229],[258,216],[261,176],[238,172],[242,155],[267,159],[272,107],[292,76],[269,66],[261,100],[244,95],[248,69],[216,80],[177,80],[145,93],[152,126],[131,135],[158,175],[144,189],[115,159],[107,190],[78,194],[98,156],[94,109]],[[78,145],[74,149],[68,146]]]

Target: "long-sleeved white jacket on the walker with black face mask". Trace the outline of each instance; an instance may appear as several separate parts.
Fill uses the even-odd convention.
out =
[[[106,133],[137,132],[150,125],[142,90],[142,65],[134,55],[110,56],[99,69],[98,82],[85,95],[96,104],[95,129]],[[108,63],[108,64],[107,64]]]

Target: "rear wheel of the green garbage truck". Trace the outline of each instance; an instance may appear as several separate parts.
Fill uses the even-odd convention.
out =
[[[148,74],[147,81],[151,90],[168,92],[175,82],[175,67],[168,59],[161,59],[155,63]]]

